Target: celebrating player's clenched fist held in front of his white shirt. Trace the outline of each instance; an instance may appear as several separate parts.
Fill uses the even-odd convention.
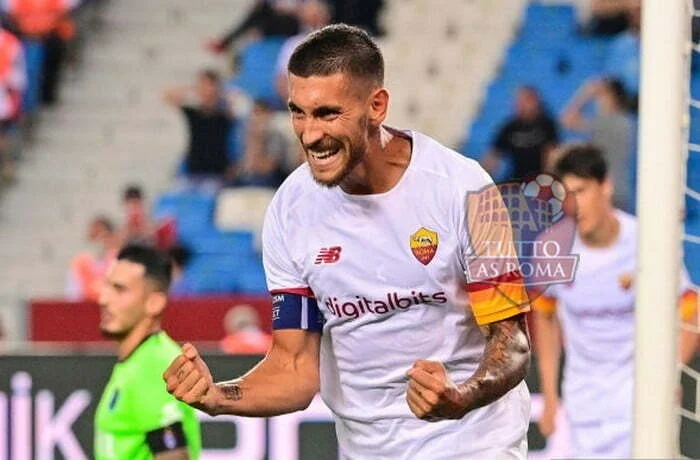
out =
[[[441,363],[420,359],[407,375],[406,401],[419,419],[431,422],[458,419],[467,412],[459,387],[450,380]]]

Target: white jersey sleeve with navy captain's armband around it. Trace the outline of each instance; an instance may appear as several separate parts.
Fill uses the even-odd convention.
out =
[[[272,328],[321,332],[323,315],[301,268],[292,259],[277,206],[277,200],[273,200],[262,235],[265,278],[272,295]]]

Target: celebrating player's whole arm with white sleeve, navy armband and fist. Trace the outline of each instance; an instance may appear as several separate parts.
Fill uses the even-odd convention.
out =
[[[322,315],[290,249],[294,235],[284,225],[289,209],[282,203],[284,187],[268,207],[262,234],[265,276],[273,296],[267,355],[244,376],[215,384],[197,350],[185,345],[164,375],[168,391],[209,414],[285,414],[306,408],[319,389]]]

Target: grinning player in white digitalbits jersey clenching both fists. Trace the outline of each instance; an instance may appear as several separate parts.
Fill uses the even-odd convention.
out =
[[[168,390],[209,414],[272,416],[304,409],[320,388],[345,458],[525,458],[522,277],[465,274],[499,238],[510,257],[509,221],[467,215],[491,179],[430,137],[383,124],[383,58],[360,29],[312,33],[288,71],[307,163],[263,228],[272,346],[241,378],[214,383],[186,344]]]

